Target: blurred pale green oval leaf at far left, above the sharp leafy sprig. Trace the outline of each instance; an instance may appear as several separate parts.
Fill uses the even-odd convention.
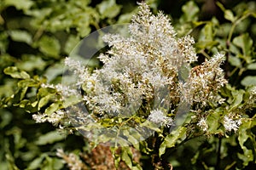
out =
[[[9,31],[9,34],[15,42],[26,42],[27,44],[32,43],[32,35],[27,31],[13,30]]]

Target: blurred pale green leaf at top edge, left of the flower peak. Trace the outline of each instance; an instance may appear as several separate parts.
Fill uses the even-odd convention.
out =
[[[102,18],[114,18],[121,10],[121,6],[115,3],[115,0],[102,1],[102,3],[96,6],[102,14]]]

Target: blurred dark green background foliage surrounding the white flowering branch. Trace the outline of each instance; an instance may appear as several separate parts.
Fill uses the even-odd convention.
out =
[[[227,56],[224,70],[230,84],[235,88],[256,85],[256,2],[149,0],[148,3],[154,13],[162,10],[170,15],[178,36],[195,37],[199,63],[222,50]],[[67,169],[55,154],[58,148],[86,158],[88,167],[107,169],[100,167],[103,162],[99,160],[112,161],[111,158],[102,158],[101,149],[90,152],[89,144],[79,134],[60,134],[48,122],[36,124],[32,113],[38,108],[32,107],[32,101],[38,100],[40,83],[61,82],[63,59],[83,37],[105,26],[127,23],[136,12],[134,0],[0,1],[1,169]],[[170,162],[175,169],[211,169],[221,159],[220,169],[253,168],[254,126],[247,127],[252,135],[244,141],[253,152],[247,154],[249,157],[237,155],[242,151],[233,135],[222,141],[220,155],[216,151],[218,138],[193,139],[171,150]],[[145,169],[153,168],[147,165],[146,157],[141,160]]]

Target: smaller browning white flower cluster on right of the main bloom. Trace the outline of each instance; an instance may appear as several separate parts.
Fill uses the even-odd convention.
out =
[[[227,83],[224,71],[220,68],[223,61],[224,54],[216,54],[202,65],[195,66],[190,71],[189,80],[183,84],[183,99],[191,104],[222,104],[224,99],[218,95],[218,90]]]

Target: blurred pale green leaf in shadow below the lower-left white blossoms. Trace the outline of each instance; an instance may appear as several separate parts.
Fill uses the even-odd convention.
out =
[[[57,141],[60,141],[62,139],[65,139],[66,136],[63,134],[60,134],[57,131],[52,131],[46,134],[42,134],[35,143],[38,145],[44,145],[44,144],[53,144]]]

